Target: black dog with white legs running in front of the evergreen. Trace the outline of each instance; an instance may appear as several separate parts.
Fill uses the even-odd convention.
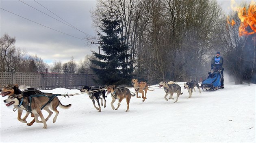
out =
[[[89,95],[90,99],[93,101],[94,107],[97,110],[99,110],[99,112],[101,112],[99,99],[101,99],[101,106],[103,106],[103,101],[102,101],[102,98],[100,96],[102,96],[103,99],[104,99],[104,108],[106,107],[106,99],[105,99],[105,97],[107,97],[107,96],[105,95],[106,91],[104,89],[102,89],[102,90],[99,90],[99,89],[102,89],[102,87],[91,88],[89,86],[84,86],[82,89],[80,89],[80,91],[81,92],[89,92],[87,94]],[[93,91],[93,90],[97,90],[97,91]],[[95,101],[94,100],[96,100],[98,102],[99,107],[95,106]]]

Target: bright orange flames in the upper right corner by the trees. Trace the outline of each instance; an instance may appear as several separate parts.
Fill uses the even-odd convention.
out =
[[[234,4],[234,1],[232,1]],[[256,2],[251,2],[248,8],[246,7],[233,7],[234,11],[237,11],[238,17],[241,20],[241,24],[239,26],[239,36],[243,35],[250,35],[256,33]],[[228,20],[228,23],[232,26],[235,24],[235,22],[231,22]],[[252,29],[248,32],[248,27]]]

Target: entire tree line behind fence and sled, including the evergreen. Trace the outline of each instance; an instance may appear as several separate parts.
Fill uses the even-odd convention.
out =
[[[230,74],[235,84],[256,83],[256,36],[239,36],[241,21],[237,12],[226,16],[215,0],[97,2],[91,15],[104,53],[93,52],[79,63],[74,58],[67,63],[54,61],[49,67],[51,72],[95,73],[101,79],[98,82],[117,85],[129,84],[131,78],[149,84],[200,80],[220,51],[224,79]],[[236,24],[231,25],[230,19]],[[9,39],[1,38],[1,70],[19,71],[18,65],[7,64],[19,53],[14,47],[15,38]],[[25,57],[29,56],[22,60],[35,71],[45,68],[38,67],[43,65],[39,64],[40,58]]]

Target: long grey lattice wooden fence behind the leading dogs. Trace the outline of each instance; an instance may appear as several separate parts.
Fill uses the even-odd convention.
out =
[[[6,84],[18,84],[37,89],[80,89],[83,86],[98,86],[93,81],[97,79],[95,74],[43,74],[43,73],[11,73],[0,72],[0,86]]]

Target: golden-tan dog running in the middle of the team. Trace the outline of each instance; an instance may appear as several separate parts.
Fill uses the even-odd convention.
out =
[[[147,99],[146,95],[147,95],[147,91],[148,89],[148,84],[146,82],[138,82],[137,79],[132,79],[132,85],[135,87],[135,91],[136,91],[136,97],[137,98],[141,98],[140,96],[138,97],[138,93],[142,94],[142,98],[143,98],[143,102],[145,101],[145,99]],[[145,90],[145,96],[144,96],[144,91]],[[150,90],[150,91],[154,91],[154,90]]]

